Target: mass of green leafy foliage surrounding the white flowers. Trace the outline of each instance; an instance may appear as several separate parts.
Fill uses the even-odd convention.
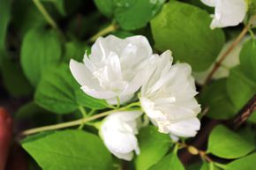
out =
[[[249,18],[255,18],[255,3],[248,2],[253,5],[248,8],[245,26],[251,22]],[[30,155],[29,161],[34,159],[43,170],[195,170],[199,166],[200,170],[252,170],[256,112],[248,119],[242,115],[244,124],[238,129],[233,129],[233,119],[256,93],[255,26],[246,32],[239,63],[227,68],[216,58],[230,34],[239,37],[243,24],[212,30],[209,14],[214,11],[196,0],[1,0],[0,105],[5,100],[19,102],[20,107],[13,108],[14,118],[18,125],[28,120],[26,129],[57,123],[68,128],[70,122],[79,125],[41,130],[23,138],[21,146]],[[207,131],[207,139],[201,139],[199,133],[193,140],[176,141],[144,116],[138,120],[139,155],[124,162],[110,154],[98,135],[104,122],[98,118],[112,113],[110,109],[140,109],[133,102],[138,97],[123,106],[95,99],[80,89],[69,68],[71,59],[82,62],[96,38],[107,34],[121,38],[142,34],[154,51],[171,50],[174,63],[189,63],[192,71],[212,70],[216,64],[229,70],[227,78],[197,84],[201,131],[214,128]],[[207,127],[215,120],[220,125]],[[207,148],[193,146],[193,141],[200,140],[207,141]],[[181,149],[200,155],[197,166],[183,165],[184,158],[178,154]]]

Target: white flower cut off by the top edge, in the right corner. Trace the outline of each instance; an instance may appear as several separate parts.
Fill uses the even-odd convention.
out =
[[[215,7],[211,28],[237,26],[243,22],[247,11],[246,0],[201,0],[208,6]]]

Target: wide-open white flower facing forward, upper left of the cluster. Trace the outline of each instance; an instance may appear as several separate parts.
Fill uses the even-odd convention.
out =
[[[84,63],[71,60],[73,77],[88,95],[105,99],[109,104],[130,100],[147,80],[149,62],[154,58],[144,36],[119,39],[113,35],[98,38]]]

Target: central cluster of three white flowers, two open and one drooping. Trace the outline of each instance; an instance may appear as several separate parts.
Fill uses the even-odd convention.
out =
[[[200,105],[194,96],[194,78],[187,63],[172,65],[171,52],[153,53],[147,38],[113,35],[99,38],[84,63],[70,63],[81,89],[109,104],[125,104],[139,89],[139,101],[150,121],[170,137],[194,137],[200,129]],[[136,138],[141,111],[118,111],[102,122],[101,137],[117,158],[139,154]]]

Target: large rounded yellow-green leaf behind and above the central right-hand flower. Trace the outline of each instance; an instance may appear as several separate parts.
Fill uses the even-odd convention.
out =
[[[207,11],[190,4],[170,1],[151,21],[155,48],[170,49],[176,61],[206,70],[219,54],[225,38],[221,29],[210,29]]]

